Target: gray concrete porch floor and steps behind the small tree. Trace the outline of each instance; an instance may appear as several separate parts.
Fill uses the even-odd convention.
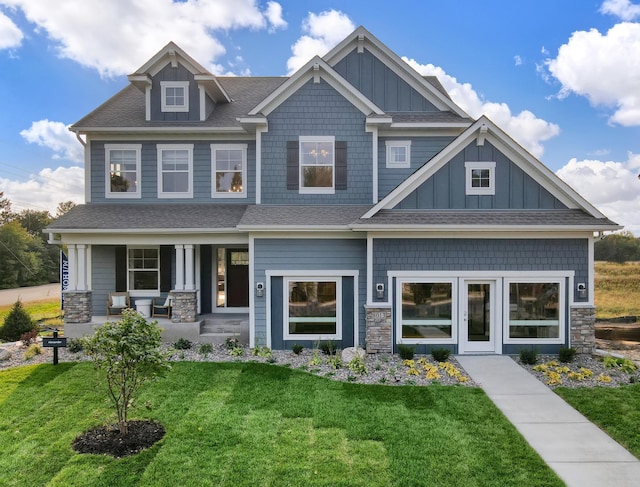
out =
[[[118,316],[92,316],[89,323],[65,323],[64,334],[68,338],[91,335],[93,330]],[[248,314],[203,314],[192,323],[173,323],[169,318],[149,318],[162,328],[162,340],[173,343],[185,338],[196,343],[222,344],[227,337],[237,338],[241,344],[249,344]]]

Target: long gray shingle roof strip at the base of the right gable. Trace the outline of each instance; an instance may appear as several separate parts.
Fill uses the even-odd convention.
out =
[[[355,226],[544,226],[618,227],[607,218],[595,218],[582,210],[381,210]],[[613,230],[613,228],[611,228]]]

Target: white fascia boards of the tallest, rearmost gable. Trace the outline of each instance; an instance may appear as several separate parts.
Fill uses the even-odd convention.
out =
[[[363,41],[360,41],[360,38],[362,38]],[[335,66],[354,48],[357,48],[360,42],[363,42],[374,56],[381,59],[398,76],[400,76],[403,81],[433,103],[438,109],[451,110],[461,117],[469,117],[462,108],[422,78],[422,76],[404,62],[400,56],[389,49],[376,36],[371,34],[371,32],[362,26],[349,34],[342,42],[329,51],[323,59],[330,66]]]

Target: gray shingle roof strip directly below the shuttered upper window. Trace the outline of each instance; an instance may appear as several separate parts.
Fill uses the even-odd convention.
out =
[[[324,227],[348,226],[369,209],[369,206],[279,206],[257,205],[247,207],[240,220],[240,229],[260,227]]]

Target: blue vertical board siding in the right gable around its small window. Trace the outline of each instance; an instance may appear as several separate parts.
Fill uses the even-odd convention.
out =
[[[495,195],[465,194],[464,164],[468,161],[496,163]],[[489,142],[477,146],[474,141],[409,194],[397,208],[564,209],[566,206]]]

